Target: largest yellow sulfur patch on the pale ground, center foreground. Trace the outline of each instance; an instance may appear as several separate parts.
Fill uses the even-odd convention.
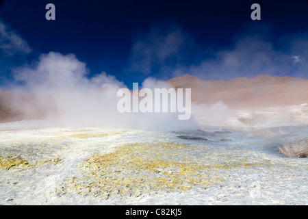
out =
[[[67,190],[109,198],[115,194],[140,196],[144,192],[175,192],[207,188],[221,177],[207,174],[209,166],[181,157],[191,146],[175,142],[125,144],[112,153],[94,154],[79,169],[81,177],[66,179]],[[177,157],[181,157],[180,162]]]

